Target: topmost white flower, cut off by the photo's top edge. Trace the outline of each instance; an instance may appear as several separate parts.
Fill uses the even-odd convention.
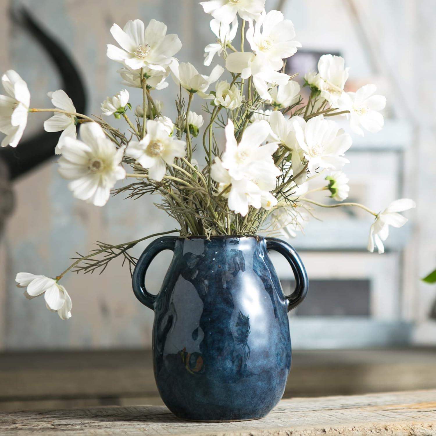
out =
[[[200,2],[206,14],[230,24],[239,14],[242,20],[257,20],[265,8],[265,0],[210,0]]]

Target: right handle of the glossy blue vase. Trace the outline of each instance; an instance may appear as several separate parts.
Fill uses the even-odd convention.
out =
[[[290,296],[286,296],[288,299],[288,312],[297,307],[306,297],[309,290],[309,280],[307,279],[306,268],[304,268],[303,262],[295,249],[287,242],[277,238],[265,238],[266,249],[279,252],[285,256],[289,262],[292,271],[295,276],[296,287],[294,292]]]

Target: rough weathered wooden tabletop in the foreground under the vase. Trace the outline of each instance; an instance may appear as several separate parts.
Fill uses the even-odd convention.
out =
[[[201,423],[164,406],[106,406],[0,414],[7,435],[436,435],[436,390],[282,400],[256,421]]]

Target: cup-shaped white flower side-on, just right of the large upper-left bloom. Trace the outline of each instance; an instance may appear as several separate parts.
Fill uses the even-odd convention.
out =
[[[216,65],[211,71],[211,75],[205,76],[200,74],[197,68],[189,62],[179,64],[177,61],[173,61],[170,65],[170,69],[176,85],[180,83],[187,92],[198,92],[198,95],[203,98],[209,97],[209,95],[205,93],[209,85],[216,82],[224,72],[224,68],[222,68],[221,65]]]

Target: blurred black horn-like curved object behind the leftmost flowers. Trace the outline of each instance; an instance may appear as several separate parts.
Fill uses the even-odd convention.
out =
[[[15,24],[29,31],[47,51],[62,78],[61,89],[71,97],[77,112],[85,112],[85,85],[67,51],[37,24],[26,9],[20,8],[11,11],[11,19]],[[54,91],[54,89],[48,89],[48,91]],[[48,115],[50,114],[48,113]],[[52,158],[60,133],[42,131],[31,139],[21,141],[16,148],[2,147],[0,149],[0,159],[7,165],[10,180],[20,177]]]

